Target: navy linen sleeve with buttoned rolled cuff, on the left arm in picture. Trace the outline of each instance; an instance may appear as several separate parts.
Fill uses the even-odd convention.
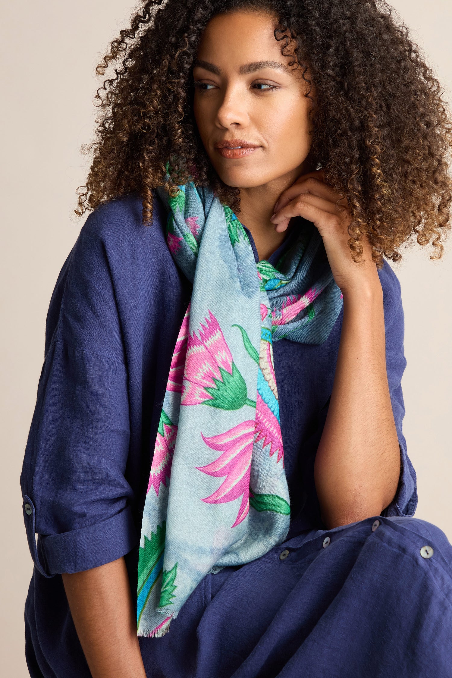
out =
[[[30,553],[44,576],[98,567],[138,540],[125,479],[129,401],[121,326],[108,261],[93,232],[82,232],[52,298],[47,325],[54,327],[47,327],[21,476]]]

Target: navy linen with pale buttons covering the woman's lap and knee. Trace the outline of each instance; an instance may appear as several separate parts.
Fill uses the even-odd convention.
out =
[[[141,640],[148,675],[452,676],[452,547],[430,523],[374,520],[208,575],[167,635]]]

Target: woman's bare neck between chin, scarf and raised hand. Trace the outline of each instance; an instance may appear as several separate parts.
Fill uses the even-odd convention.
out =
[[[274,214],[274,205],[281,194],[307,171],[302,165],[262,186],[240,189],[239,219],[251,232],[260,260],[268,259],[287,235],[287,231],[277,233],[270,221]]]

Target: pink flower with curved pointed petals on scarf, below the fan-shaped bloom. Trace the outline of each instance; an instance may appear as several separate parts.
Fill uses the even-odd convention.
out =
[[[242,501],[237,518],[231,527],[239,525],[249,511],[249,475],[251,471],[251,455],[253,454],[255,422],[246,421],[231,428],[226,433],[211,438],[203,436],[203,441],[211,450],[222,452],[218,459],[198,467],[198,471],[215,478],[226,476],[218,490],[203,499],[207,504],[224,504],[239,497]]]

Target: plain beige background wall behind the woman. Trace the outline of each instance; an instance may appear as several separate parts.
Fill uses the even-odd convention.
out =
[[[450,0],[395,0],[452,89]],[[0,0],[1,150],[1,610],[0,675],[26,678],[23,605],[32,562],[22,521],[19,475],[43,360],[44,323],[60,267],[81,222],[75,188],[86,167],[99,52],[127,21],[127,0]],[[449,247],[450,249],[450,247]],[[432,263],[407,252],[402,283],[408,367],[405,435],[418,474],[417,517],[452,541],[452,256]]]

